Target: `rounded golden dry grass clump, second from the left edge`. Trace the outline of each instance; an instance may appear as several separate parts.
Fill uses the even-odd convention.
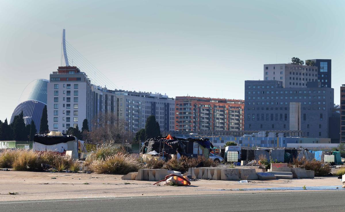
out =
[[[16,171],[40,171],[42,170],[38,152],[32,150],[20,151],[18,158],[13,161],[12,167]]]

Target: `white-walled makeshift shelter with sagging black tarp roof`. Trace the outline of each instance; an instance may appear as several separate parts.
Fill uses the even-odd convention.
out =
[[[78,139],[72,135],[54,133],[52,136],[48,134],[36,134],[33,137],[33,151],[52,151],[66,153],[73,151],[72,158],[78,158]]]

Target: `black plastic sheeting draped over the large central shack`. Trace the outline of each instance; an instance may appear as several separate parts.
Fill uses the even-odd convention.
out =
[[[173,139],[167,140],[166,137],[156,137],[148,139],[144,145],[142,145],[140,149],[140,153],[147,153],[151,151],[156,151],[160,154],[176,154],[176,151],[182,156],[192,157],[193,155],[193,147],[194,142],[197,142],[204,148],[207,148],[211,151],[213,148],[212,143],[209,141],[208,138],[201,138],[201,139],[183,139],[183,138],[176,138],[172,136]]]

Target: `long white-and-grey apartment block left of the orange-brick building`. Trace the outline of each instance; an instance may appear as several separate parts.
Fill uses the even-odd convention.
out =
[[[174,130],[175,100],[167,95],[124,90],[108,90],[91,84],[77,67],[59,67],[50,74],[48,83],[49,130],[66,132],[87,119],[90,130],[100,112],[112,112],[128,122],[128,130],[145,128],[146,118],[155,115],[164,131]]]

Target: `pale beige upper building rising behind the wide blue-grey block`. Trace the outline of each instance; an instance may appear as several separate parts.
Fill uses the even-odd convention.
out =
[[[283,82],[284,88],[306,88],[308,82],[317,82],[316,66],[295,64],[264,64],[264,80]]]

